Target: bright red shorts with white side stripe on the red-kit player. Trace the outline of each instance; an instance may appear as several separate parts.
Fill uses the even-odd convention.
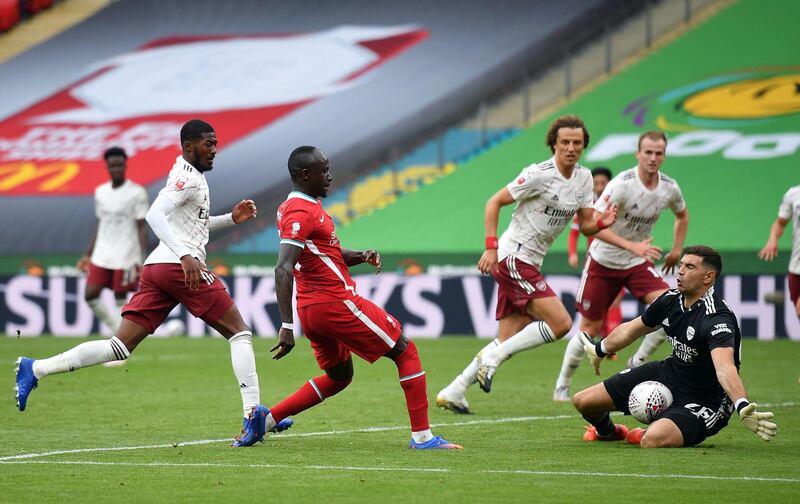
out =
[[[297,315],[322,370],[346,361],[350,352],[375,362],[403,332],[397,319],[361,296],[297,308]]]

